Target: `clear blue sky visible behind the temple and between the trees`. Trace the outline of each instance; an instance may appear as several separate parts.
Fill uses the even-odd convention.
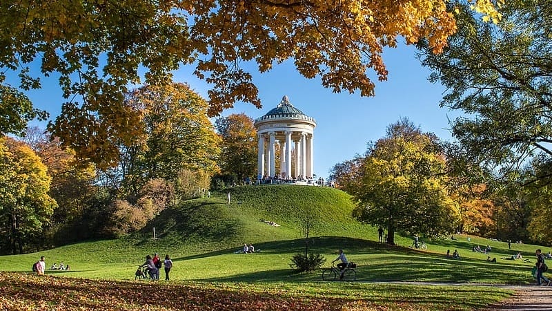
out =
[[[314,172],[326,178],[333,165],[352,159],[366,151],[366,143],[385,135],[386,127],[402,117],[408,117],[422,131],[433,132],[443,140],[451,140],[449,118],[457,113],[440,108],[444,88],[427,81],[429,71],[415,59],[415,48],[402,46],[387,49],[384,62],[388,79],[375,79],[375,97],[361,97],[349,93],[332,93],[322,87],[319,79],[306,79],[299,75],[293,62],[277,65],[268,73],[252,73],[259,88],[262,109],[251,104],[237,103],[231,113],[245,113],[253,119],[273,109],[284,95],[295,108],[314,117],[317,126],[314,134]],[[182,68],[175,73],[175,81],[186,82],[207,98],[209,85],[195,78],[193,68]],[[61,91],[57,79],[43,81],[43,88],[28,93],[34,105],[50,112],[52,120],[61,109]],[[36,122],[34,123],[36,125]],[[45,124],[39,124],[44,127]]]

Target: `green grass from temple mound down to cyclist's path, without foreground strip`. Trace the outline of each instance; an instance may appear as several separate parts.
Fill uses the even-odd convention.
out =
[[[66,276],[101,279],[132,279],[136,265],[146,254],[171,254],[175,261],[173,279],[203,281],[317,281],[319,274],[293,274],[290,258],[302,252],[304,243],[298,228],[305,209],[317,211],[319,226],[313,250],[329,260],[335,249],[344,248],[350,260],[359,264],[358,279],[364,281],[468,281],[481,283],[529,283],[532,263],[505,261],[513,250],[506,243],[458,236],[459,241],[426,241],[428,250],[388,247],[376,243],[375,228],[351,218],[353,205],[348,195],[336,189],[300,186],[236,187],[209,199],[185,202],[162,212],[143,232],[112,241],[78,243],[40,254],[3,256],[1,270],[28,271],[40,255],[48,265],[64,261]],[[271,220],[279,227],[259,219]],[[157,241],[152,239],[155,227]],[[400,245],[410,238],[397,237]],[[243,243],[254,243],[259,254],[233,254]],[[473,243],[491,245],[498,263],[486,255],[471,252]],[[462,261],[444,258],[446,249],[459,249]],[[533,245],[513,245],[525,255],[534,254]],[[548,249],[543,249],[547,252]],[[533,256],[531,256],[533,261]],[[327,265],[327,264],[326,264]]]

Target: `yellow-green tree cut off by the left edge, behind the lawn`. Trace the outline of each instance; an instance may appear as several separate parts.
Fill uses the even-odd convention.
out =
[[[43,243],[56,202],[40,158],[22,142],[0,139],[0,249],[19,254]]]

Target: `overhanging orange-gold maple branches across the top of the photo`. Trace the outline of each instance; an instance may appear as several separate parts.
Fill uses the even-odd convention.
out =
[[[473,9],[496,17],[495,0]],[[497,0],[500,1],[500,0]],[[124,105],[130,84],[167,81],[182,64],[212,84],[209,114],[234,102],[261,106],[252,75],[293,59],[306,78],[335,92],[374,94],[369,75],[384,80],[382,59],[397,37],[422,38],[439,52],[455,32],[446,0],[5,0],[0,6],[0,86],[19,76],[19,88],[40,88],[55,74],[68,99],[49,129],[81,158],[115,165],[111,137],[139,134]],[[451,10],[451,11],[449,11]],[[145,79],[145,81],[144,81]],[[24,94],[19,94],[24,97]],[[0,122],[0,124],[2,124]]]

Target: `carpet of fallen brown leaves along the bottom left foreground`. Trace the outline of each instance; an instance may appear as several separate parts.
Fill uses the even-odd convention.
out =
[[[0,272],[1,310],[378,310],[368,301]]]

